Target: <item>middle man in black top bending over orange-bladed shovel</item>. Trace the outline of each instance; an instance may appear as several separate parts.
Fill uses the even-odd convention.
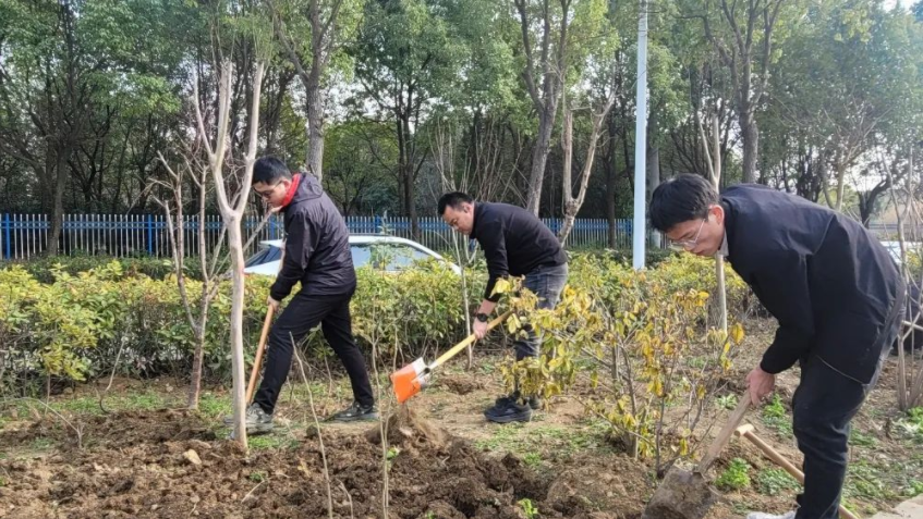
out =
[[[476,239],[487,260],[487,288],[475,314],[474,335],[484,338],[487,321],[499,296],[494,285],[500,277],[525,276],[523,286],[538,296],[538,308],[555,308],[568,281],[568,260],[555,234],[534,214],[507,203],[478,201],[464,193],[448,193],[439,199],[439,215],[453,230]],[[526,338],[517,341],[517,360],[538,357],[539,338],[526,325]],[[497,398],[484,411],[497,423],[526,421],[541,403],[537,397],[521,401],[519,390]]]

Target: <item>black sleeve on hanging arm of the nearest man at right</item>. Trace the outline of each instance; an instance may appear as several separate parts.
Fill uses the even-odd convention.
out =
[[[763,269],[757,279],[761,292],[779,321],[776,337],[760,368],[767,373],[782,372],[798,362],[810,348],[814,336],[814,310],[811,305],[807,258],[796,251],[780,251],[765,258],[772,268]]]

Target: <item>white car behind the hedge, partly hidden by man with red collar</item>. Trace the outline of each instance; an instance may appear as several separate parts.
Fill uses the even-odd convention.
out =
[[[397,236],[381,234],[351,234],[350,251],[353,257],[353,265],[359,269],[373,260],[373,250],[387,259],[387,264],[379,264],[386,272],[399,272],[412,267],[414,261],[435,259],[445,262],[456,274],[461,274],[461,269],[451,261],[442,258],[439,252],[426,248],[423,245]],[[259,251],[251,256],[244,263],[244,274],[271,275],[279,272],[279,260],[282,257],[282,240],[266,239],[259,243]]]

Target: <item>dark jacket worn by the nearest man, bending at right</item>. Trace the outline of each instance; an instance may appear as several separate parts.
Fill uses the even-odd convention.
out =
[[[903,309],[885,247],[851,218],[765,186],[730,187],[721,203],[727,259],[779,321],[761,368],[816,356],[867,384]]]

